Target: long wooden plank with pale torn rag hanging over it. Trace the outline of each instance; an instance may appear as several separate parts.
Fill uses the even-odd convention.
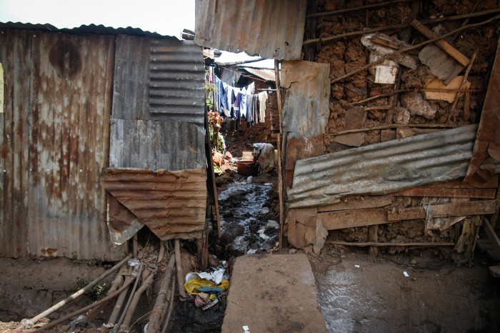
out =
[[[451,202],[449,204],[436,204],[432,206],[432,217],[463,217],[468,215],[492,214],[495,209],[494,200],[475,202]],[[387,219],[391,222],[406,219],[425,219],[424,207],[403,209],[401,212],[389,212]]]

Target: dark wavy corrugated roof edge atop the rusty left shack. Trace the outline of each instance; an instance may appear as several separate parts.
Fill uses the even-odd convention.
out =
[[[139,28],[132,28],[128,26],[126,28],[112,28],[111,26],[104,26],[102,24],[89,24],[81,25],[76,28],[57,28],[51,24],[31,24],[31,23],[21,23],[21,22],[0,22],[0,29],[22,29],[22,30],[40,30],[40,31],[51,31],[51,32],[64,32],[66,34],[104,34],[104,35],[119,35],[126,34],[131,36],[142,36],[151,38],[164,38],[164,39],[175,39],[174,36],[164,36],[156,32],[143,31]]]

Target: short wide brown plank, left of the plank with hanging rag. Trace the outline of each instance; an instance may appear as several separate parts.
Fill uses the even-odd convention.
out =
[[[353,209],[339,212],[319,213],[318,219],[321,220],[327,230],[391,223],[391,221],[388,221],[387,212],[383,208]]]

